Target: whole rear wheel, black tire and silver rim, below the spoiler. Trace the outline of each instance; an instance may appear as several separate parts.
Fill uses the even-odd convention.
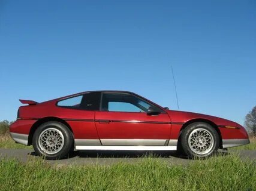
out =
[[[49,160],[67,158],[74,150],[74,138],[69,128],[61,122],[41,124],[33,135],[35,153]]]

